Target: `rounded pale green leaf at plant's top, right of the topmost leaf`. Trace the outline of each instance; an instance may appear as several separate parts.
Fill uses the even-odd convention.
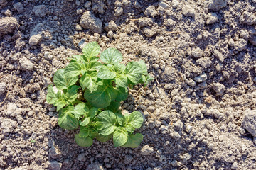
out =
[[[100,60],[107,64],[122,62],[122,54],[115,48],[108,48],[101,53]]]

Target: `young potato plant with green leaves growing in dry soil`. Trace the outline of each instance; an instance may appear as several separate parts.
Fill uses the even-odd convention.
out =
[[[80,128],[75,135],[79,146],[91,146],[94,138],[106,142],[113,137],[114,147],[138,147],[143,135],[134,135],[134,130],[142,126],[142,114],[122,115],[120,102],[126,100],[128,87],[146,86],[153,78],[142,60],[124,65],[114,48],[99,54],[100,46],[90,42],[82,55],[73,55],[67,67],[55,72],[55,86],[48,86],[46,99],[57,107],[61,128]]]

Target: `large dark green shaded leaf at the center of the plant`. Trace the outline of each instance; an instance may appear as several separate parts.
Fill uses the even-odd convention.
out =
[[[107,83],[98,86],[96,91],[85,90],[85,99],[95,108],[107,108],[114,99],[114,89]]]

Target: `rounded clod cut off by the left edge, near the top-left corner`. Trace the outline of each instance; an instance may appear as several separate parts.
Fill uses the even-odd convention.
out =
[[[18,28],[18,21],[14,17],[4,17],[0,19],[0,35],[14,33]]]

